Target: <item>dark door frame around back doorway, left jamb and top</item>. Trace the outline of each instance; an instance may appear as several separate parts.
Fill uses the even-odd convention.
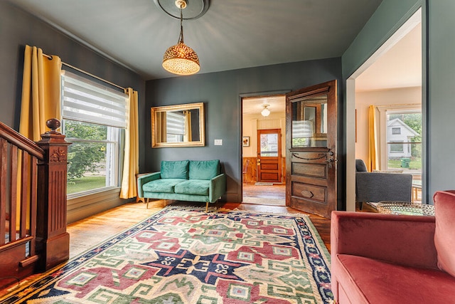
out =
[[[286,95],[287,93],[291,92],[291,90],[275,90],[275,91],[262,91],[262,92],[257,92],[257,93],[242,93],[239,94],[239,99],[238,99],[238,111],[240,113],[240,120],[239,120],[239,128],[238,128],[238,133],[237,133],[237,140],[239,142],[239,150],[237,152],[237,159],[238,159],[238,164],[237,164],[237,180],[238,186],[237,186],[237,191],[239,193],[240,201],[243,200],[243,179],[242,179],[242,165],[243,165],[243,149],[242,149],[242,135],[243,135],[243,98],[267,98],[267,97],[273,97],[277,95]]]

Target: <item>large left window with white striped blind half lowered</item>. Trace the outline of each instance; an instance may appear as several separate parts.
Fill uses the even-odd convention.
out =
[[[81,196],[119,187],[127,95],[73,73],[62,76],[63,134],[68,147],[68,189]]]

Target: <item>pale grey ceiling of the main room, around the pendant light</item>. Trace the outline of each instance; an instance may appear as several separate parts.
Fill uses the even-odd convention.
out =
[[[173,77],[161,61],[180,24],[153,0],[8,1],[146,80]],[[183,22],[185,43],[200,73],[340,57],[380,2],[212,0],[204,16]]]

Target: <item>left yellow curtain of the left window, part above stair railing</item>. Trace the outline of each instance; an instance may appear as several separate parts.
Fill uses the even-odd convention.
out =
[[[21,120],[19,132],[33,141],[48,131],[45,122],[61,120],[60,73],[62,61],[43,56],[43,50],[26,46],[23,60]]]

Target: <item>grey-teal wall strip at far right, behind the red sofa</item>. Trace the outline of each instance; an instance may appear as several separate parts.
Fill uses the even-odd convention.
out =
[[[428,1],[429,195],[455,189],[455,1]]]

